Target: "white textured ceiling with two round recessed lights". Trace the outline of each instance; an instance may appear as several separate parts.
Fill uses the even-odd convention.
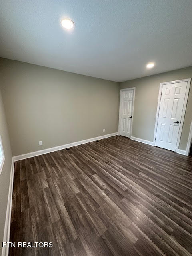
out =
[[[1,0],[0,56],[118,82],[190,66],[192,0]]]

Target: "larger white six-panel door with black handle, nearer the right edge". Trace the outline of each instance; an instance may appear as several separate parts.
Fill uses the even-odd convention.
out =
[[[176,150],[186,88],[187,82],[163,85],[155,146]]]

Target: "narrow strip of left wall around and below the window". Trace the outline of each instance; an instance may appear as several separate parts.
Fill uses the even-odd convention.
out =
[[[10,140],[8,135],[8,129],[6,124],[6,117],[4,113],[4,105],[2,101],[2,96],[0,92],[0,135],[2,138],[2,144],[5,154],[5,162],[0,175],[0,241],[3,241],[4,226],[6,218],[6,209],[8,202],[8,191],[10,182],[10,171],[12,164],[12,152],[10,148]],[[2,246],[0,246],[0,255],[2,252]]]

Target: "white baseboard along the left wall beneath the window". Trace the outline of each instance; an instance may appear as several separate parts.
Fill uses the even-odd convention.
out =
[[[12,208],[12,196],[13,196],[13,176],[14,176],[14,159],[12,158],[3,242],[9,242],[9,237],[10,237],[11,208]],[[8,254],[9,254],[9,248],[2,247],[1,255],[8,256]]]

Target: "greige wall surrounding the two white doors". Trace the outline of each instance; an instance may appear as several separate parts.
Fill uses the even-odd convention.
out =
[[[186,78],[192,78],[192,66],[120,83],[120,89],[136,87],[132,136],[153,141],[160,83]],[[179,149],[181,150],[186,150],[191,120],[192,85],[180,139]]]

